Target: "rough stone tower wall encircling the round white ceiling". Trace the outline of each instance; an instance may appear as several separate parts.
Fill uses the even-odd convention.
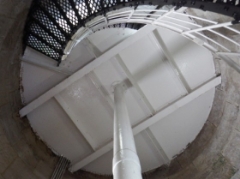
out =
[[[19,57],[29,5],[30,0],[0,1],[0,179],[48,179],[57,161],[37,139],[27,120],[18,116],[22,107]],[[209,13],[208,17],[219,18]],[[239,36],[232,38],[239,41]],[[231,48],[239,51],[235,46]],[[234,60],[240,64],[240,59]],[[204,128],[170,166],[144,174],[144,178],[240,178],[240,74],[222,60],[216,59],[216,65],[222,84],[216,88],[214,105]],[[84,171],[64,176],[64,179],[74,178],[111,176]]]

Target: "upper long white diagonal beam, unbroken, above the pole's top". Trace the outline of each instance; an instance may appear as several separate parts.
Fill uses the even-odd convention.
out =
[[[102,54],[100,57],[98,57],[94,61],[90,62],[89,64],[75,72],[72,76],[68,77],[67,79],[65,79],[64,81],[62,81],[61,83],[59,83],[58,85],[56,85],[55,87],[53,87],[52,89],[50,89],[49,91],[47,91],[46,93],[32,101],[31,103],[29,103],[27,106],[22,108],[19,111],[20,116],[23,117],[29,114],[31,111],[33,111],[34,109],[36,109],[37,107],[39,107],[40,105],[42,105],[43,103],[57,95],[59,92],[64,90],[66,87],[68,87],[75,81],[79,80],[80,78],[82,78],[83,76],[85,76],[86,74],[88,74],[101,64],[103,64],[104,62],[108,61],[109,59],[117,55],[119,52],[130,46],[131,44],[137,42],[139,39],[151,33],[154,29],[155,26],[152,25],[147,25],[141,28],[137,33],[130,36],[121,43],[117,44],[115,47],[111,48],[110,50]]]

